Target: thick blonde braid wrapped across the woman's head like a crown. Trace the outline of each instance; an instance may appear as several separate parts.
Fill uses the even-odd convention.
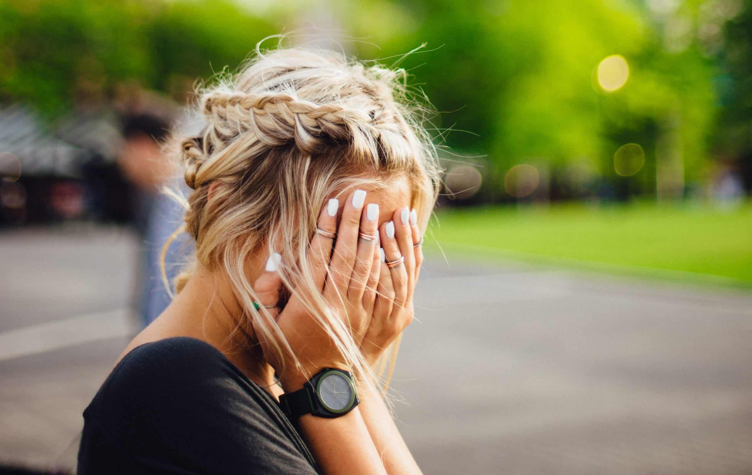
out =
[[[186,184],[196,189],[199,168],[209,156],[228,147],[238,135],[250,134],[268,148],[294,142],[304,154],[325,151],[333,144],[346,144],[354,160],[366,163],[378,160],[379,150],[390,150],[395,143],[382,143],[382,135],[396,135],[397,142],[411,139],[408,124],[394,107],[393,99],[384,84],[359,84],[362,97],[355,107],[341,103],[316,103],[300,99],[287,92],[264,90],[243,93],[211,90],[200,101],[207,127],[200,139],[183,142],[182,162]],[[199,142],[202,142],[199,143]],[[390,150],[396,157],[406,157],[409,151]]]

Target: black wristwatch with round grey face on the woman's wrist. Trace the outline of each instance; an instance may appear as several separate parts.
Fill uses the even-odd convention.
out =
[[[339,417],[360,403],[353,376],[348,371],[324,368],[297,391],[280,395],[280,407],[287,417],[297,421],[303,414]]]

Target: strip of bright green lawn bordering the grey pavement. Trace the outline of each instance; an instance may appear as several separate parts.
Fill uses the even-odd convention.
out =
[[[752,202],[726,210],[644,202],[482,206],[437,209],[436,215],[426,251],[441,245],[444,251],[551,260],[617,273],[716,276],[726,279],[708,281],[752,288]]]

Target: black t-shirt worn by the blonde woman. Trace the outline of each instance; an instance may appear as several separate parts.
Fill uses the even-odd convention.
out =
[[[83,419],[79,475],[318,473],[274,397],[195,338],[133,349]]]

